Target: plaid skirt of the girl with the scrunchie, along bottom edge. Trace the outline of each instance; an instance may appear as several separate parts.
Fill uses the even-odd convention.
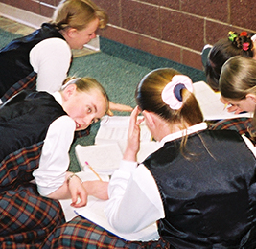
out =
[[[53,232],[48,241],[42,246],[43,249],[50,248],[73,248],[73,249],[93,249],[93,248],[131,248],[131,249],[154,249],[172,248],[168,242],[160,238],[157,241],[139,242],[126,241],[109,233],[102,227],[92,223],[91,221],[77,216],[71,221],[61,225]]]

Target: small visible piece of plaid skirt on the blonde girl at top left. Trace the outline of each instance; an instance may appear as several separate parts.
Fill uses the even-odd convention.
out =
[[[37,74],[35,72],[32,72],[26,78],[20,79],[18,82],[13,84],[12,87],[2,96],[1,101],[6,102],[10,98],[12,98],[12,96],[14,96],[23,89],[35,91],[36,78]]]

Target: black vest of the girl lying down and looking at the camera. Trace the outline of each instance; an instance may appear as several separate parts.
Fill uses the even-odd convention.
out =
[[[46,92],[22,91],[6,102],[0,108],[0,162],[20,148],[42,142],[50,124],[62,115],[67,115],[62,106]]]

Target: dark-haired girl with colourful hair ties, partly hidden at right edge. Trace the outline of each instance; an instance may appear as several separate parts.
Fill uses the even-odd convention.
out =
[[[236,32],[229,32],[228,37],[222,38],[217,41],[210,53],[208,55],[205,74],[207,83],[214,89],[220,90],[219,80],[221,76],[221,68],[223,64],[231,57],[243,56],[243,57],[253,57],[255,56],[255,45],[256,45],[256,35],[248,34],[242,32],[240,34]],[[221,102],[228,104],[228,102],[221,99]],[[240,113],[241,110],[233,105],[227,107],[229,112]],[[247,127],[253,126],[252,119],[250,118],[236,118],[229,120],[221,120],[210,126],[211,129],[233,129],[237,130],[240,134],[246,134],[252,141]],[[254,143],[254,141],[253,141]]]

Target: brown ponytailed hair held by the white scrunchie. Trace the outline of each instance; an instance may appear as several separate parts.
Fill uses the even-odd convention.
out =
[[[203,116],[194,94],[182,89],[182,107],[178,110],[170,108],[163,102],[161,94],[164,87],[172,81],[175,75],[181,75],[172,68],[160,68],[151,71],[138,84],[135,98],[140,109],[151,111],[159,115],[170,124],[194,125],[203,121]]]

